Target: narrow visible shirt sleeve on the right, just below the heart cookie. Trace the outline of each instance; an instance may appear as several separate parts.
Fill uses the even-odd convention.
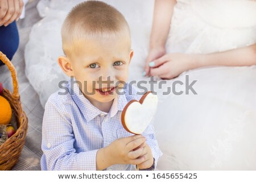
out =
[[[155,138],[154,126],[149,125],[146,130],[142,133],[144,137],[146,137],[146,143],[150,146],[153,158],[155,159],[155,167],[158,163],[160,156],[163,155],[162,151],[158,146],[158,142]]]

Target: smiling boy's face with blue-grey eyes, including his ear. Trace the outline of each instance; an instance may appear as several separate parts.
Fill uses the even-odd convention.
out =
[[[110,102],[127,81],[133,51],[125,40],[117,38],[83,42],[67,62],[68,76],[81,82],[80,90],[91,102]],[[63,56],[59,57],[63,59]],[[66,65],[68,67],[68,65]],[[63,66],[61,66],[63,68]],[[63,68],[64,70],[64,68]]]

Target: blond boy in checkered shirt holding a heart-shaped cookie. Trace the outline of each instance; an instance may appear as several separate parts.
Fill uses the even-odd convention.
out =
[[[104,2],[86,1],[68,14],[61,35],[65,56],[58,63],[77,84],[69,81],[66,94],[53,93],[47,101],[42,169],[154,170],[162,152],[152,126],[143,137],[121,123],[127,102],[140,98],[125,84],[133,51],[123,15]]]

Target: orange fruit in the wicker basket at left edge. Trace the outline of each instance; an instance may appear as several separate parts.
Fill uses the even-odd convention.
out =
[[[7,125],[11,121],[11,106],[5,97],[0,96],[0,124]]]

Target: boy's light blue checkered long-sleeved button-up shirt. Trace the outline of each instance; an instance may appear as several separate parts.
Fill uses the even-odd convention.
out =
[[[73,86],[71,86],[73,85]],[[93,106],[71,81],[63,84],[67,94],[60,89],[53,93],[45,107],[42,130],[42,170],[96,170],[97,151],[114,140],[129,137],[122,126],[122,110],[131,100],[139,100],[138,88],[123,88],[125,94],[114,98],[109,113]],[[72,91],[72,92],[71,92]],[[72,94],[71,94],[72,93]],[[142,134],[151,147],[155,164],[162,155],[155,139],[154,127],[148,126]],[[114,164],[106,170],[131,170],[131,164]]]

